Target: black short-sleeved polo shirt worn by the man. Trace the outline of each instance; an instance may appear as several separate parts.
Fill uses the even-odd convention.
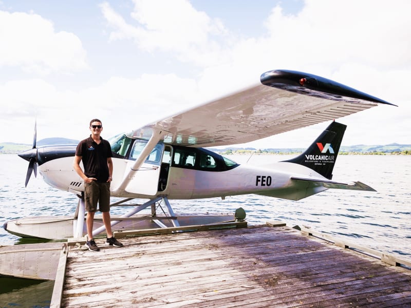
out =
[[[81,156],[84,166],[84,174],[88,178],[96,178],[97,182],[107,182],[108,165],[107,158],[113,157],[110,143],[100,137],[100,144],[89,138],[80,141],[76,149],[76,156]]]

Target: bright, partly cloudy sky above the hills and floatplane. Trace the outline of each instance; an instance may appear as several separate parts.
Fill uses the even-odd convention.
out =
[[[320,75],[398,105],[339,119],[343,145],[411,144],[408,0],[0,0],[0,142],[103,138],[247,88]],[[329,123],[247,146],[306,147]]]

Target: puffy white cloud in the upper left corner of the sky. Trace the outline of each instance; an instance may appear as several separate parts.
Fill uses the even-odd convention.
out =
[[[41,75],[87,68],[86,51],[73,33],[55,32],[37,14],[0,11],[0,67],[21,67]]]

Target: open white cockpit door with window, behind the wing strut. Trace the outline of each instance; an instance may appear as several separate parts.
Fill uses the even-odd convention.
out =
[[[134,142],[126,170],[133,167],[136,159],[140,156],[141,151],[146,144],[147,141],[145,140],[137,139]],[[134,178],[127,185],[126,191],[132,192],[134,194],[150,196],[157,194],[163,151],[164,144],[157,143],[153,150],[150,152],[150,155],[148,155],[148,157],[144,160],[143,164],[136,172]]]

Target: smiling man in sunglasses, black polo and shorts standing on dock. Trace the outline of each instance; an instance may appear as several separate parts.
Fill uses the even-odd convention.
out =
[[[73,167],[79,176],[84,180],[84,201],[87,210],[87,236],[88,241],[85,247],[89,251],[98,252],[100,248],[93,239],[94,215],[99,210],[103,215],[103,222],[106,228],[106,245],[121,247],[122,243],[117,241],[111,230],[110,223],[110,182],[113,175],[113,153],[108,141],[100,137],[103,126],[99,119],[90,121],[90,137],[80,141],[76,149]],[[84,172],[80,167],[83,161]]]

